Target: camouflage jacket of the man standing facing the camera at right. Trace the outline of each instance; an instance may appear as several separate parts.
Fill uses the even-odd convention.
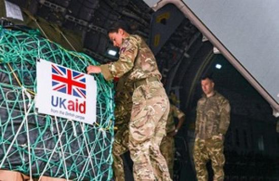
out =
[[[214,135],[225,134],[230,123],[229,101],[215,91],[211,97],[202,96],[197,103],[197,138],[208,139]]]

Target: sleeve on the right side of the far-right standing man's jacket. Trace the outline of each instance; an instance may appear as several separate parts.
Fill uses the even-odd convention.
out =
[[[230,104],[227,99],[224,99],[220,105],[220,124],[219,133],[225,134],[230,124]]]

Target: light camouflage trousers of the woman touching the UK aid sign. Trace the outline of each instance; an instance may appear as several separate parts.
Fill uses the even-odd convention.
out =
[[[129,150],[133,160],[134,180],[171,180],[166,161],[160,152],[165,135],[169,101],[161,83],[156,96],[150,96],[142,87],[134,90],[131,121],[129,123]]]

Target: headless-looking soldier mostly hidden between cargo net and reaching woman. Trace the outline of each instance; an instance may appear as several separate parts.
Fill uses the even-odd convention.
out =
[[[117,131],[113,142],[113,171],[115,181],[125,181],[123,160],[121,155],[127,152],[129,128],[132,110],[133,85],[127,82],[128,74],[121,77],[116,86],[115,94],[115,126]]]

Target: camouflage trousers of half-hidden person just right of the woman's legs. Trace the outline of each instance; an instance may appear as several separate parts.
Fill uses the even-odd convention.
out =
[[[164,136],[160,144],[160,151],[164,156],[169,175],[173,178],[173,164],[175,162],[175,138],[172,136]]]

